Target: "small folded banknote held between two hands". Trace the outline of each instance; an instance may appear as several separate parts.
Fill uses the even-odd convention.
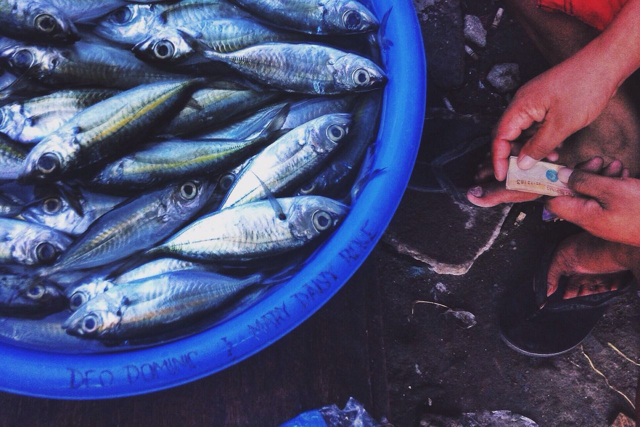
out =
[[[538,162],[527,171],[518,167],[518,158],[509,158],[507,172],[507,189],[524,191],[527,193],[543,194],[544,196],[575,196],[575,193],[558,179],[558,171],[563,165],[548,162]]]

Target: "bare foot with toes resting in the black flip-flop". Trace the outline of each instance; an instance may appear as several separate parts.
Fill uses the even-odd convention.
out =
[[[619,289],[620,277],[611,273],[632,269],[640,250],[579,233],[564,239],[556,248],[547,274],[547,296],[568,278],[563,299]],[[609,276],[607,276],[609,274]]]

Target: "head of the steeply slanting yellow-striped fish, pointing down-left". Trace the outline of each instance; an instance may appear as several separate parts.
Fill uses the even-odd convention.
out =
[[[69,169],[78,147],[74,132],[51,133],[27,155],[18,176],[19,183],[58,180]]]

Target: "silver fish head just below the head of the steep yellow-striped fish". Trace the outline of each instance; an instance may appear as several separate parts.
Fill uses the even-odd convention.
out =
[[[24,210],[22,217],[26,221],[69,233],[72,233],[78,222],[83,221],[83,217],[70,205],[66,197],[53,193],[45,195],[41,201]]]

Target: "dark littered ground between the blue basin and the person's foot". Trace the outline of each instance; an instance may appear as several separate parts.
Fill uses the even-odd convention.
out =
[[[609,343],[640,360],[636,292],[610,306],[588,339],[570,353],[520,355],[500,339],[497,310],[505,290],[529,283],[538,267],[540,205],[482,210],[417,190],[435,182],[429,163],[438,150],[486,135],[508,104],[513,92],[499,94],[484,84],[491,67],[518,63],[524,82],[546,68],[544,60],[508,11],[486,48],[475,49],[479,60],[465,56],[463,15],[477,15],[488,25],[499,1],[414,1],[426,38],[430,109],[413,189],[375,253],[385,307],[389,421],[445,425],[433,422],[433,414],[510,410],[540,426],[608,426],[620,412],[632,415],[624,396],[635,401],[640,371]],[[443,97],[456,113],[472,116],[444,113]],[[470,130],[447,131],[460,130],[461,123],[471,123]],[[472,155],[470,162],[477,159]],[[470,185],[467,169],[454,165],[447,173],[465,187]],[[443,314],[444,308],[431,304],[415,305],[412,314],[417,300],[467,310],[477,324],[463,329]]]

